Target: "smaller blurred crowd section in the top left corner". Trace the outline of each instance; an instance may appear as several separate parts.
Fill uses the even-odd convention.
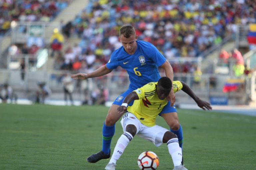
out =
[[[67,7],[71,0],[1,0],[0,36],[11,26],[12,21],[49,22]]]

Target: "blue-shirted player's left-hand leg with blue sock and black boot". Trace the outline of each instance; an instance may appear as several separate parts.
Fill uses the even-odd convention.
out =
[[[87,158],[90,163],[96,163],[101,159],[110,158],[110,145],[112,137],[115,134],[115,123],[122,116],[117,113],[117,108],[119,105],[111,105],[106,120],[102,128],[102,149],[100,152],[95,153]]]

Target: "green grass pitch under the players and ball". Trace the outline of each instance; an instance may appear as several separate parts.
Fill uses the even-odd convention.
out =
[[[1,170],[102,170],[109,160],[90,164],[101,149],[108,108],[0,104]],[[189,170],[256,170],[256,117],[178,109],[183,128],[184,164]],[[157,124],[168,128],[161,117]],[[112,139],[122,134],[120,121]],[[135,136],[117,162],[117,170],[138,170],[143,151],[159,157],[158,170],[173,168],[166,144]]]

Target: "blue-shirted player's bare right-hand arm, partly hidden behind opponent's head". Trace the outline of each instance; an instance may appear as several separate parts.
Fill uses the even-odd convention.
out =
[[[166,60],[161,67],[164,69],[165,75],[166,77],[168,77],[169,79],[171,79],[171,81],[173,82],[173,69],[171,64]],[[173,90],[170,91],[169,96],[167,96],[167,100],[171,101],[171,106],[174,105],[175,103],[175,94],[173,92]]]

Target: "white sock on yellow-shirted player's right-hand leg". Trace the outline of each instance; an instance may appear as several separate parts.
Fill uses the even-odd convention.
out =
[[[179,146],[178,138],[168,140],[167,147],[170,155],[172,156],[174,166],[179,166],[182,161],[182,149]]]

